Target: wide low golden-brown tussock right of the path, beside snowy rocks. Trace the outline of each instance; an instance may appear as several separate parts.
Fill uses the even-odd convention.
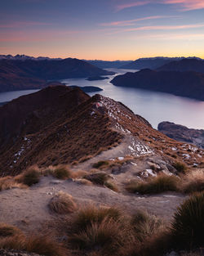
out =
[[[126,190],[131,193],[157,194],[164,191],[176,191],[178,182],[178,177],[161,174],[157,177],[149,178],[146,182],[130,182],[126,186]]]

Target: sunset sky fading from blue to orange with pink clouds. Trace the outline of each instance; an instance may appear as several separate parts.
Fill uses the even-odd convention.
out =
[[[0,0],[0,54],[204,58],[204,0]]]

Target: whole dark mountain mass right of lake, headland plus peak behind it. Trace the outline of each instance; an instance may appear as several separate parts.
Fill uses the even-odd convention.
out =
[[[173,61],[157,70],[144,69],[116,76],[116,86],[167,92],[204,101],[204,61],[185,59]]]

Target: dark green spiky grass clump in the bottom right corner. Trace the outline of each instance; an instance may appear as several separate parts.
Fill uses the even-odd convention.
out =
[[[203,216],[204,192],[192,195],[180,205],[172,222],[175,245],[187,246],[189,249],[203,245]]]

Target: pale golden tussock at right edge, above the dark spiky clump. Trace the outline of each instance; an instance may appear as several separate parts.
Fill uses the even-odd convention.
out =
[[[181,185],[181,191],[192,193],[204,191],[204,170],[198,169],[184,175]]]

